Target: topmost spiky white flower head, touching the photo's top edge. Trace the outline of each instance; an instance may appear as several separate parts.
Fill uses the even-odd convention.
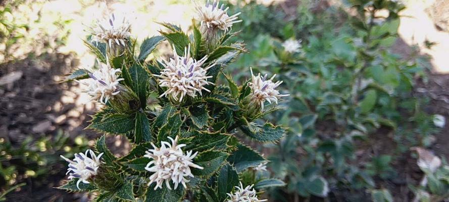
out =
[[[241,13],[229,16],[226,13],[229,7],[224,9],[224,4],[221,4],[220,6],[220,3],[217,0],[214,0],[212,4],[208,0],[204,6],[198,5],[196,1],[193,2],[195,3],[195,9],[198,12],[196,20],[201,23],[202,30],[218,28],[223,31],[228,31],[232,28],[232,24],[241,22],[241,20],[237,20],[237,16]]]

